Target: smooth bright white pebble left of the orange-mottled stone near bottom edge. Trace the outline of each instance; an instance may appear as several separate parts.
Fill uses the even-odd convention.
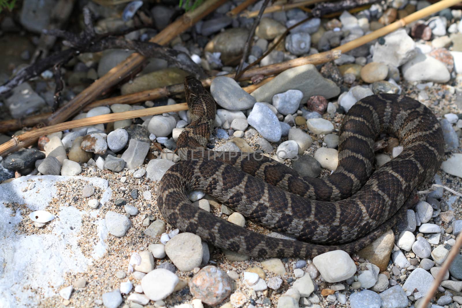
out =
[[[159,301],[173,293],[178,282],[179,278],[174,273],[156,268],[141,279],[141,287],[150,300]]]

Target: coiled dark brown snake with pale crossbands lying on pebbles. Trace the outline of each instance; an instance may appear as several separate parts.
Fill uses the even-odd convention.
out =
[[[187,77],[184,87],[192,122],[178,137],[176,152],[188,159],[171,166],[159,182],[159,210],[176,228],[241,254],[307,258],[335,249],[358,251],[415,203],[415,188],[432,179],[443,158],[443,133],[431,110],[396,94],[353,105],[339,133],[338,167],[326,178],[299,175],[262,155],[192,151],[207,145],[216,103],[199,80]],[[383,132],[397,136],[404,150],[372,173],[374,142]],[[297,240],[261,235],[216,217],[192,205],[193,190]]]

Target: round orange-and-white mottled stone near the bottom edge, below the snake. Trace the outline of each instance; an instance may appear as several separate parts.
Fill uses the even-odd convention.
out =
[[[230,296],[232,285],[231,278],[215,266],[203,267],[188,283],[191,294],[210,306]]]

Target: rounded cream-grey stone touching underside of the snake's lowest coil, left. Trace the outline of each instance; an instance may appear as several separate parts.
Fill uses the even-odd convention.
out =
[[[193,233],[180,233],[167,242],[165,253],[181,272],[192,271],[202,262],[201,238]]]

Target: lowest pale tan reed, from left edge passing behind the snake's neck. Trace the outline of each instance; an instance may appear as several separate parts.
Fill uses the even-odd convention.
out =
[[[266,84],[268,81],[270,81],[273,78],[274,77],[270,77],[265,80],[262,80],[257,85],[249,85],[247,87],[244,87],[243,90],[248,93],[251,93],[255,91],[255,89]],[[48,135],[50,133],[61,132],[66,129],[72,129],[72,128],[89,126],[89,125],[96,125],[96,124],[101,124],[101,123],[115,122],[115,121],[125,120],[125,119],[139,118],[139,117],[146,116],[146,115],[159,115],[159,114],[163,114],[166,112],[174,112],[174,111],[180,111],[180,110],[188,110],[188,105],[186,103],[180,103],[180,104],[174,104],[174,105],[159,106],[159,107],[131,110],[131,111],[125,111],[125,112],[117,112],[117,113],[113,113],[109,115],[97,115],[97,116],[92,116],[92,117],[83,118],[79,120],[62,122],[62,123],[47,126],[47,127],[37,128],[29,132],[20,134],[19,136],[14,136],[12,139],[0,145],[0,153],[2,156],[5,156],[11,151],[11,149],[16,148],[18,146],[23,146],[24,142],[26,142],[27,140],[36,139],[40,136]]]

